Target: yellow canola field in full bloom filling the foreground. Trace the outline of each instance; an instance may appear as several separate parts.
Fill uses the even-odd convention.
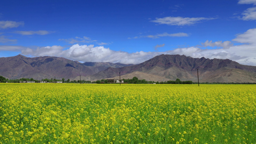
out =
[[[256,85],[0,84],[0,144],[256,144]]]

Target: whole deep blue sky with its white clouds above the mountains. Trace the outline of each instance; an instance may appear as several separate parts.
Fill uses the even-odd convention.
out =
[[[5,0],[0,57],[140,63],[160,54],[256,65],[256,0]]]

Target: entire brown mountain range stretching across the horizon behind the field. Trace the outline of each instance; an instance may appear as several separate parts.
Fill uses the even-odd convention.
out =
[[[239,82],[255,83],[256,66],[246,66],[232,60],[186,57],[184,55],[159,55],[140,64],[110,62],[85,62],[58,57],[28,58],[23,55],[0,58],[0,75],[8,79],[54,78],[96,81],[134,76],[147,81]]]

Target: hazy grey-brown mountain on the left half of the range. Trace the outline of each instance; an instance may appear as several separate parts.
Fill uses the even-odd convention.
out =
[[[87,66],[85,63],[58,57],[27,58],[22,55],[0,58],[0,75],[8,79],[33,78],[71,79],[87,76],[105,70],[108,65],[120,67],[121,64],[100,63],[97,66]]]

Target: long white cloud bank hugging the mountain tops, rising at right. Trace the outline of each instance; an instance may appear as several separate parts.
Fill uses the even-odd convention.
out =
[[[133,63],[138,64],[149,60],[161,54],[180,54],[191,56],[193,58],[209,58],[209,59],[230,59],[245,65],[256,66],[256,28],[249,29],[245,33],[236,36],[232,41],[240,43],[233,46],[230,41],[212,42],[207,40],[201,44],[201,47],[219,47],[218,49],[202,49],[198,47],[176,48],[164,52],[134,52],[115,51],[103,46],[95,47],[94,45],[75,44],[65,49],[61,46],[41,47],[41,48],[25,48],[22,50],[23,55],[28,56],[57,56],[81,62],[113,62],[113,63]],[[164,45],[158,45],[157,48]]]

